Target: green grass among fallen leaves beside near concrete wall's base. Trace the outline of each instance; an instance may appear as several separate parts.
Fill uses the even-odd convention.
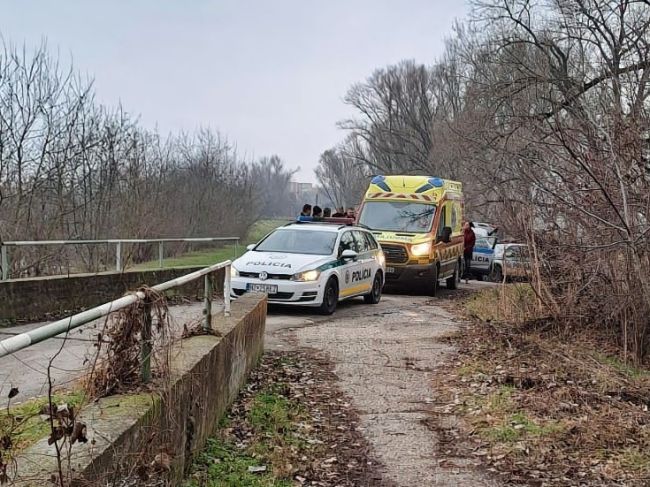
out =
[[[244,418],[226,418],[219,422],[222,434],[208,440],[197,456],[185,487],[250,486],[289,487],[294,485],[287,470],[289,452],[305,446],[299,426],[306,412],[287,398],[283,384],[275,384],[256,394],[246,404]],[[245,446],[237,445],[227,434],[230,429],[246,431]],[[266,467],[250,472],[249,467]]]

